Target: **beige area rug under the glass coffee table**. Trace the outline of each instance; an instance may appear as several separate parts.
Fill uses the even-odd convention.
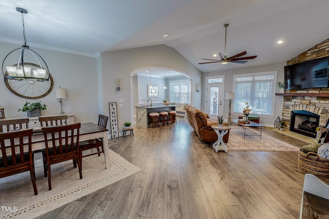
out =
[[[299,148],[283,142],[262,132],[262,139],[259,136],[260,131],[248,129],[248,134],[244,139],[243,128],[231,128],[228,143],[228,151],[299,151]],[[258,136],[257,136],[258,135]]]

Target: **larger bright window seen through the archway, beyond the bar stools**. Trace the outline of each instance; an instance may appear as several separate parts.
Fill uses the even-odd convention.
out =
[[[191,103],[191,82],[173,81],[170,82],[170,102]]]

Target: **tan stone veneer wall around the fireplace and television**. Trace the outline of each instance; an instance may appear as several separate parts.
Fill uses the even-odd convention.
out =
[[[287,61],[287,65],[302,63],[316,58],[329,56],[329,39],[310,48],[306,52]],[[291,111],[306,110],[320,115],[319,127],[323,127],[329,117],[329,88],[291,89],[285,93],[300,93],[300,96],[284,96],[282,120],[290,127]],[[304,96],[303,93],[312,93],[314,96]],[[328,96],[316,96],[317,93]]]

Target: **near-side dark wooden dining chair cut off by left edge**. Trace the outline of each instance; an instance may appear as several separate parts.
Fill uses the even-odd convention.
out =
[[[30,171],[34,195],[37,195],[31,143],[32,134],[32,129],[0,133],[2,153],[2,157],[0,157],[0,178]],[[28,147],[24,147],[26,145]],[[6,150],[6,148],[10,148],[10,150]]]

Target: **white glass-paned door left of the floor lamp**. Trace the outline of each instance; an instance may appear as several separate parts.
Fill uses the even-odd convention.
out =
[[[223,84],[212,83],[207,85],[206,113],[210,118],[217,119],[223,115]]]

